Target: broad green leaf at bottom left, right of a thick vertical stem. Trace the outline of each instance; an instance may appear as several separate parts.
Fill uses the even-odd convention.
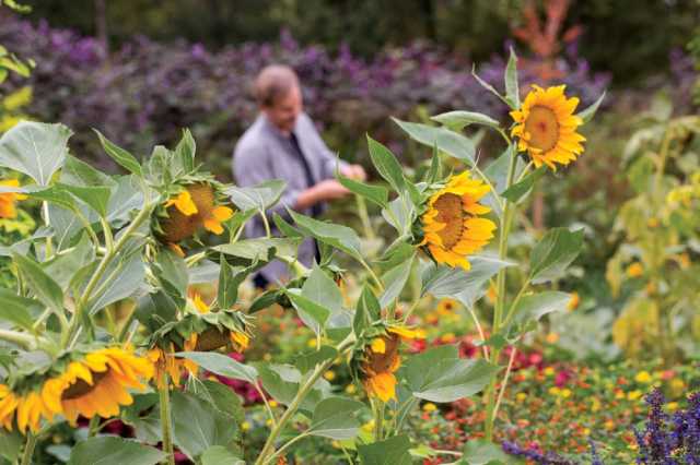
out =
[[[173,442],[190,460],[214,445],[234,445],[238,426],[212,404],[191,394],[173,391],[171,394]]]

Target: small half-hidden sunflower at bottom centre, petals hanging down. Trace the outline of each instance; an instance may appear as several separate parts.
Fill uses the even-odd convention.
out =
[[[394,373],[401,366],[398,354],[401,339],[421,338],[420,330],[405,326],[389,326],[384,334],[372,338],[362,355],[362,382],[370,396],[382,402],[396,398],[396,377]]]

